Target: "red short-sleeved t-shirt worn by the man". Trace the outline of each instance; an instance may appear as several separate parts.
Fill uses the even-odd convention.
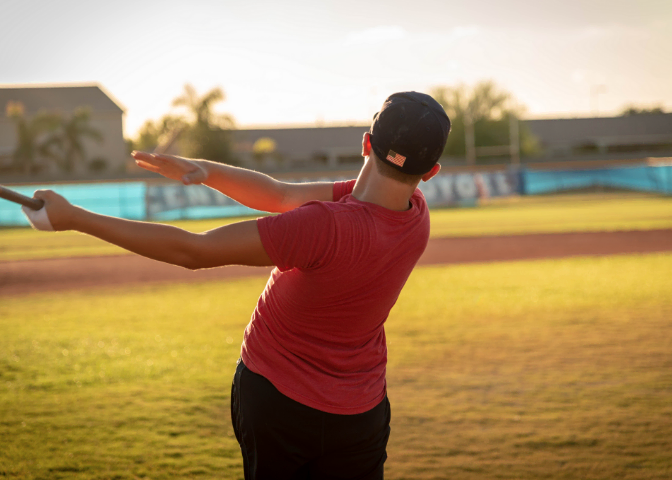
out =
[[[397,212],[334,184],[309,202],[257,220],[273,269],[245,329],[242,359],[284,395],[318,410],[356,414],[385,397],[383,324],[429,238],[420,190]]]

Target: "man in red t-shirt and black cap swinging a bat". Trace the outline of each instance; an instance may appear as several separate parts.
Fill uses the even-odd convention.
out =
[[[231,415],[247,479],[382,479],[390,432],[383,324],[429,238],[418,183],[450,121],[391,95],[364,134],[357,180],[286,184],[203,160],[134,152],[141,167],[277,216],[202,234],[105,217],[38,191],[55,230],[186,268],[275,265],[245,330]],[[284,213],[283,213],[284,212]]]

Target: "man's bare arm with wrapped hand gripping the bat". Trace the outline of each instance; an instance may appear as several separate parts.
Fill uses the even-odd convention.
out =
[[[170,225],[108,217],[71,205],[49,190],[35,192],[45,201],[54,230],[76,230],[161,262],[196,270],[223,265],[273,265],[255,220],[191,233]]]

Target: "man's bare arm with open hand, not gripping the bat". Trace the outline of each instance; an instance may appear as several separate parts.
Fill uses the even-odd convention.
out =
[[[245,206],[282,213],[311,200],[331,201],[332,182],[286,183],[266,174],[207,160],[133,152],[136,163],[185,185],[203,184]]]

